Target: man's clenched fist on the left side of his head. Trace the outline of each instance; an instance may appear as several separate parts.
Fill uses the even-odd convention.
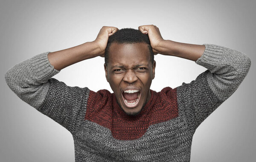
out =
[[[105,56],[105,49],[108,44],[108,37],[113,35],[118,30],[118,28],[112,26],[103,26],[100,29],[97,38],[93,41],[99,47],[99,56]]]

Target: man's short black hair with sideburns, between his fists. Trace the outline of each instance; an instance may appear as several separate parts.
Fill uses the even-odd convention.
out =
[[[132,43],[141,43],[144,42],[148,45],[148,49],[150,52],[150,61],[154,63],[154,52],[150,45],[148,34],[143,34],[141,31],[133,28],[122,28],[116,31],[113,35],[108,37],[108,44],[105,49],[105,64],[108,64],[108,53],[109,47],[112,43],[120,43],[120,44],[132,44]]]

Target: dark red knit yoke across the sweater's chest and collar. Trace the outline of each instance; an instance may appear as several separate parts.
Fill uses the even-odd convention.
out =
[[[135,140],[148,127],[178,116],[177,89],[166,87],[161,92],[151,90],[151,99],[139,115],[128,116],[119,107],[116,97],[108,90],[90,91],[85,120],[109,128],[118,140]]]

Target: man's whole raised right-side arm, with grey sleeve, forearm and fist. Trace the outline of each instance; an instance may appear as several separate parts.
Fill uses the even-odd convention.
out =
[[[194,130],[236,91],[250,69],[250,58],[237,50],[163,40],[154,25],[139,29],[149,34],[155,53],[189,59],[207,68],[194,81],[177,87],[180,113]]]

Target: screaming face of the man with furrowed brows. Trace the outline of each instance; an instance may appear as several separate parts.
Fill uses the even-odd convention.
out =
[[[146,43],[111,44],[106,78],[126,114],[137,115],[151,98],[155,65]]]

